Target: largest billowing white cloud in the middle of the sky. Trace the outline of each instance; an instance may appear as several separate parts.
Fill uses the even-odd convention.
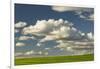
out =
[[[23,29],[23,34],[44,35],[45,39],[72,38],[80,39],[81,32],[73,27],[73,24],[67,20],[49,19],[37,21],[36,25],[31,25]]]

